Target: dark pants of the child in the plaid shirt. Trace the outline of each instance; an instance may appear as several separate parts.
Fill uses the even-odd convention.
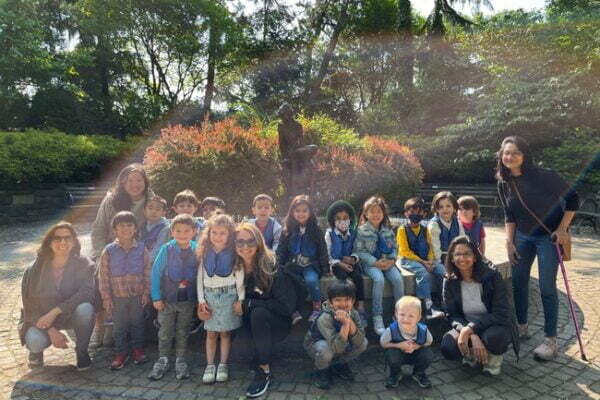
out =
[[[115,352],[125,353],[131,349],[144,347],[144,306],[142,297],[113,297],[113,336]]]

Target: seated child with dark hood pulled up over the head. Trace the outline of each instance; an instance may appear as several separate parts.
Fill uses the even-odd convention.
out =
[[[366,328],[368,322],[365,311],[363,276],[360,272],[358,256],[352,254],[356,239],[356,211],[350,203],[338,200],[327,209],[327,222],[329,222],[329,228],[325,232],[325,243],[327,244],[331,273],[338,279],[350,278],[354,282],[360,323]]]

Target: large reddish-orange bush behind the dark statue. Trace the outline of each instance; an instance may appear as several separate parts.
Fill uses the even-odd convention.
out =
[[[322,116],[301,116],[299,121],[319,145],[314,159],[317,209],[339,198],[362,201],[379,192],[393,200],[418,189],[423,172],[408,147],[360,138]],[[337,129],[344,135],[336,135]],[[252,198],[265,192],[277,199],[283,214],[287,196],[276,132],[275,124],[254,122],[243,128],[233,118],[203,128],[172,126],[146,150],[145,165],[155,191],[169,200],[190,188],[198,196],[222,197],[229,212],[247,214]]]

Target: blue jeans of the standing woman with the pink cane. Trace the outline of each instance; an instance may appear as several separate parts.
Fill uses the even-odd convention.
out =
[[[544,333],[547,337],[555,337],[558,320],[558,293],[556,290],[558,255],[556,247],[554,247],[550,235],[529,236],[518,230],[515,235],[515,246],[520,257],[512,268],[517,321],[519,324],[527,323],[529,276],[531,264],[537,255],[540,294],[544,308]]]

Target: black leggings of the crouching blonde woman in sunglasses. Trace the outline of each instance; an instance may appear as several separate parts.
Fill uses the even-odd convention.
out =
[[[254,362],[265,365],[271,363],[273,345],[289,335],[292,321],[289,317],[258,307],[244,314],[244,326],[250,330],[250,340],[254,344]]]

